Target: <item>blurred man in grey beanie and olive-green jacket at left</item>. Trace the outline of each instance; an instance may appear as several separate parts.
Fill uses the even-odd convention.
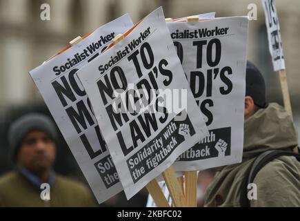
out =
[[[0,178],[0,206],[94,206],[86,186],[52,170],[57,131],[50,118],[20,117],[12,122],[8,140],[17,167]]]

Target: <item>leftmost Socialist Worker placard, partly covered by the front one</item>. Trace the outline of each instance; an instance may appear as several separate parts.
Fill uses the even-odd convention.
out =
[[[129,15],[101,26],[86,39],[30,71],[81,171],[101,203],[123,188],[76,72],[132,27]]]

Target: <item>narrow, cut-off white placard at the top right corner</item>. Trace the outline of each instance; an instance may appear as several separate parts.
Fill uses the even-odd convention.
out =
[[[261,0],[265,11],[270,55],[274,71],[286,69],[275,0]]]

